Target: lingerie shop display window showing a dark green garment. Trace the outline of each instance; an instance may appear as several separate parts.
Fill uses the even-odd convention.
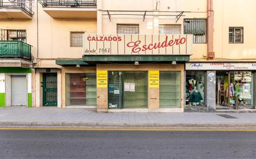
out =
[[[186,106],[204,106],[204,72],[186,72]]]

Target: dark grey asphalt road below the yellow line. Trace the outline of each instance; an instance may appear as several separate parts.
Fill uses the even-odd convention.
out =
[[[256,158],[256,132],[7,130],[0,158]]]

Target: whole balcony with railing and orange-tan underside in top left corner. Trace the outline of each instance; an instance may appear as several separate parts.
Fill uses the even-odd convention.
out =
[[[0,19],[32,19],[32,15],[32,0],[0,0]]]

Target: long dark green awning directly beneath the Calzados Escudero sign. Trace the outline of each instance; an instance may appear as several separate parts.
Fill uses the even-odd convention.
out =
[[[83,56],[83,60],[91,62],[186,62],[190,60],[190,56],[116,56],[116,55],[89,55]]]

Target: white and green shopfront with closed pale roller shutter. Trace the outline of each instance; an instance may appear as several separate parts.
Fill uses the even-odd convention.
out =
[[[32,69],[1,67],[0,107],[32,106]]]

